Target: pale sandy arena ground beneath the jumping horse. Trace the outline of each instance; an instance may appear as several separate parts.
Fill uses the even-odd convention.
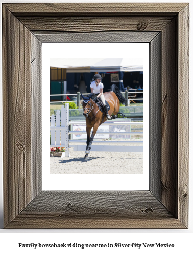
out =
[[[142,139],[139,139],[142,140]],[[136,141],[136,139],[135,139]],[[77,144],[77,143],[76,143]],[[93,145],[104,145],[97,143]],[[107,144],[106,145],[112,145]],[[114,144],[123,145],[123,144]],[[140,145],[141,144],[127,144]],[[86,150],[86,145],[85,145]],[[51,174],[142,174],[142,152],[98,152],[90,151],[84,161],[85,152],[70,149],[70,157],[50,157]]]

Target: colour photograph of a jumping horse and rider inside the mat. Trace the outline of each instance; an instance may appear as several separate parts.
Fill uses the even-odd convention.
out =
[[[135,56],[50,59],[51,174],[143,174],[143,59]]]

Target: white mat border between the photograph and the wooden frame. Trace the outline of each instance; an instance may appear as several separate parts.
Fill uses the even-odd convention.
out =
[[[81,49],[81,51],[80,51]],[[143,59],[143,174],[50,175],[50,58],[97,57]],[[92,53],[92,54],[91,54]],[[102,56],[100,56],[102,53]],[[129,63],[128,63],[129,65]],[[146,190],[149,189],[149,44],[42,44],[42,189],[43,190]],[[47,148],[47,151],[45,151]],[[94,154],[94,153],[92,153]],[[103,153],[101,153],[103,154]],[[112,157],[115,152],[112,152]],[[84,152],[82,152],[84,157]],[[113,163],[112,168],[116,168]],[[88,163],[89,165],[89,163]],[[87,167],[88,167],[87,165]],[[86,166],[85,166],[86,167]],[[65,168],[65,166],[63,166]],[[127,166],[123,166],[127,168]],[[137,166],[136,166],[137,168]],[[72,170],[73,173],[73,170]],[[93,182],[94,181],[94,182]]]

